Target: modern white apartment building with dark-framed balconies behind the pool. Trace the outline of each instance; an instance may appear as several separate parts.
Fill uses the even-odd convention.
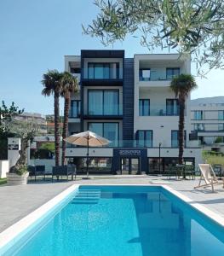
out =
[[[65,69],[80,81],[71,100],[69,135],[89,130],[112,141],[90,148],[90,170],[162,173],[177,163],[179,103],[169,84],[173,76],[190,73],[189,59],[175,54],[125,58],[123,50],[81,50],[80,56],[65,56]],[[197,140],[190,140],[189,102],[184,158],[197,164],[201,149]],[[66,157],[79,160],[80,168],[85,155],[86,148],[66,148]]]

